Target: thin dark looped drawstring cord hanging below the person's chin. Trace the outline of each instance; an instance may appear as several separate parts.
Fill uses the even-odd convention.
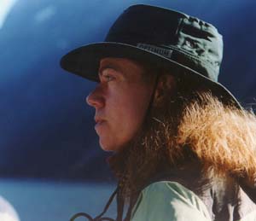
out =
[[[79,212],[79,213],[74,214],[73,217],[70,218],[70,221],[74,221],[76,218],[79,218],[79,217],[88,218],[89,221],[104,221],[104,220],[106,220],[106,221],[115,221],[113,218],[107,218],[107,217],[102,218],[102,216],[108,211],[108,207],[111,205],[114,196],[117,195],[118,189],[119,188],[117,188],[113,191],[113,194],[110,196],[110,198],[108,200],[108,203],[105,206],[103,212],[100,215],[96,216],[96,218],[92,218],[89,214],[87,214],[85,212]]]

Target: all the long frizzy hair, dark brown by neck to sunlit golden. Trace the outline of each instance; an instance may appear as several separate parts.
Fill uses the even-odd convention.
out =
[[[164,105],[152,107],[137,136],[110,159],[124,197],[141,189],[158,172],[199,160],[207,171],[256,177],[256,118],[224,103],[211,90],[177,79]]]

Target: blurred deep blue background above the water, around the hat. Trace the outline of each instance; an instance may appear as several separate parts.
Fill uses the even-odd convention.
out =
[[[84,102],[95,84],[61,70],[59,60],[102,41],[133,3],[180,10],[217,26],[224,36],[219,81],[241,102],[255,102],[253,0],[18,0],[0,29],[0,177],[112,180],[93,109]]]

